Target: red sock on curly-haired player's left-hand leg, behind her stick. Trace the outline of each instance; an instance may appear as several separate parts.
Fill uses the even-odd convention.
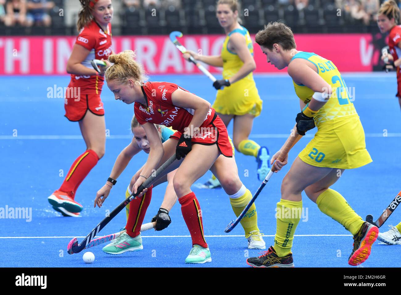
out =
[[[130,202],[130,214],[128,215],[126,230],[127,234],[132,238],[135,238],[140,233],[146,209],[148,209],[150,199],[152,199],[152,188],[153,185],[148,188],[148,191],[142,197],[137,197]]]

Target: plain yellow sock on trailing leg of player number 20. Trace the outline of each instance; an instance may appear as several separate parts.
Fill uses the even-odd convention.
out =
[[[342,224],[355,235],[363,224],[362,218],[355,213],[344,197],[334,189],[327,189],[316,199],[320,211]]]

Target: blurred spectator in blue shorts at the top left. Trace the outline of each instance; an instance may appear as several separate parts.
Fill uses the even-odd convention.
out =
[[[54,2],[48,0],[28,0],[26,7],[28,14],[26,15],[26,25],[51,25],[51,17],[48,11],[55,6]]]

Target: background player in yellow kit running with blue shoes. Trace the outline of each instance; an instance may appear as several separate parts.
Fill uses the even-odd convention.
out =
[[[215,67],[223,67],[223,79],[217,80],[213,86],[218,90],[213,108],[226,126],[234,121],[233,141],[237,151],[251,155],[257,161],[257,177],[265,178],[269,172],[269,151],[265,146],[259,146],[250,140],[253,119],[260,115],[262,100],[257,92],[252,72],[256,69],[253,59],[253,42],[246,28],[239,23],[239,4],[237,0],[219,0],[217,2],[217,18],[224,28],[226,39],[221,49],[221,55],[198,55],[193,51],[184,53],[184,58],[190,55],[198,61],[203,61]],[[223,88],[224,87],[224,88]],[[217,187],[219,184],[212,177],[206,185]]]

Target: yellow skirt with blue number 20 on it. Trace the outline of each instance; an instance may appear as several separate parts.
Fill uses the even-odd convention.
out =
[[[372,162],[358,114],[322,122],[298,157],[316,167],[352,169]]]

